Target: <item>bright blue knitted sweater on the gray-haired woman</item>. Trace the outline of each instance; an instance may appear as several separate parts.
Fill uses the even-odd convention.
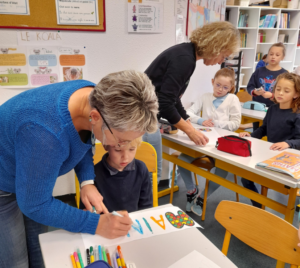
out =
[[[94,179],[91,144],[83,143],[68,109],[70,96],[89,81],[27,90],[0,106],[0,189],[15,193],[32,220],[94,234],[99,215],[52,196],[58,176],[73,168],[80,182]]]

